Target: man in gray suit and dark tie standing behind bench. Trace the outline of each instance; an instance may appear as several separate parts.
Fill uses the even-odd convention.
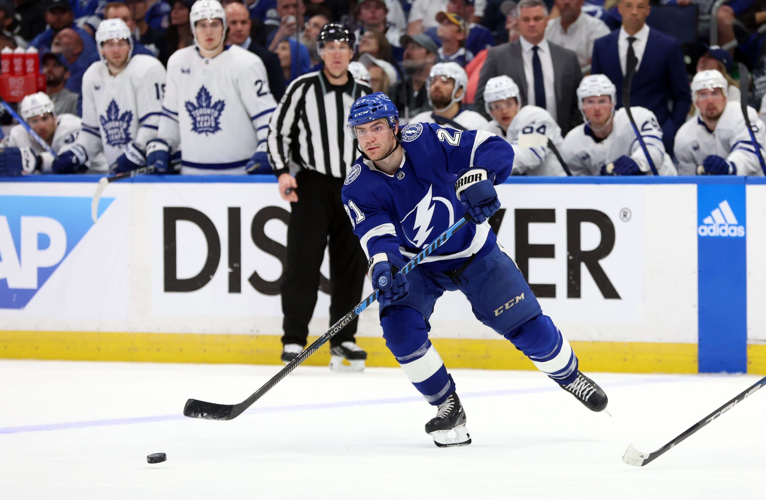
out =
[[[489,48],[476,88],[483,89],[492,77],[508,75],[519,84],[522,106],[547,109],[566,135],[582,123],[577,106],[582,71],[575,52],[545,40],[547,25],[548,8],[541,0],[519,2],[521,37]],[[485,113],[482,92],[476,92],[475,107]]]

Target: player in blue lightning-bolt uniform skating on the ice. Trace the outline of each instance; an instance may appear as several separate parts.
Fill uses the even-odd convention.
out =
[[[508,178],[513,149],[490,132],[411,123],[384,93],[360,97],[349,114],[349,136],[362,156],[346,175],[342,199],[381,290],[386,346],[437,415],[426,433],[437,446],[470,444],[455,382],[428,339],[428,319],[447,290],[460,290],[483,324],[593,411],[607,406],[601,387],[578,370],[578,359],[542,314],[516,264],[496,241],[487,218],[500,208],[494,185]],[[474,224],[457,231],[406,276],[411,257],[460,215]]]

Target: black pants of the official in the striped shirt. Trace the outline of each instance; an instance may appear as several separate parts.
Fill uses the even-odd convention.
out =
[[[367,260],[343,209],[342,178],[313,170],[296,174],[298,201],[291,203],[287,224],[287,262],[281,286],[283,344],[306,345],[316,306],[319,266],[329,236],[330,322],[332,325],[362,300]],[[330,339],[330,345],[354,342],[357,319]]]

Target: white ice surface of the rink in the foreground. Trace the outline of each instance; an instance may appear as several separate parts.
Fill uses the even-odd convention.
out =
[[[279,369],[0,361],[0,498],[766,498],[766,391],[648,466],[621,461],[757,376],[591,374],[609,417],[536,372],[454,370],[473,444],[445,449],[393,368],[300,367],[235,420],[182,416],[188,397],[244,400]]]

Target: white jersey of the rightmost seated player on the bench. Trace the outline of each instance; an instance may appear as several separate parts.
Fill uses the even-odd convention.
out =
[[[748,116],[753,127],[755,142],[766,157],[763,144],[766,142],[764,124],[758,119],[755,109],[748,106]],[[676,132],[673,146],[678,160],[679,175],[696,175],[697,166],[709,155],[726,158],[737,167],[737,175],[764,175],[761,162],[755,152],[752,139],[745,126],[740,103],[728,102],[719,118],[715,130],[709,130],[702,119],[690,119]]]

